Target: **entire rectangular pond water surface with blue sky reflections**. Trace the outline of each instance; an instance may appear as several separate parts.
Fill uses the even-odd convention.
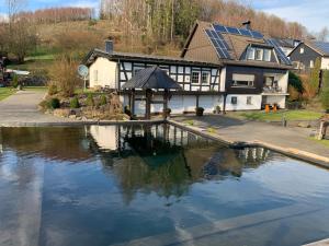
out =
[[[0,128],[0,245],[302,245],[329,173],[169,125]]]

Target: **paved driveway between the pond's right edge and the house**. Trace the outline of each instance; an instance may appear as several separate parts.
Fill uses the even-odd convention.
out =
[[[239,120],[224,116],[182,116],[174,117],[172,120],[203,132],[208,132],[208,128],[212,128],[214,136],[229,143],[258,143],[310,161],[320,161],[329,166],[329,148],[309,139],[311,129],[283,128],[266,122]],[[186,120],[193,120],[193,126],[189,126]]]

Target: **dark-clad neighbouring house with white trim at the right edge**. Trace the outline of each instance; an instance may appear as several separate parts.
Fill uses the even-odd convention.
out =
[[[300,43],[288,55],[295,69],[307,71],[320,59],[321,69],[329,70],[329,43],[308,40]]]

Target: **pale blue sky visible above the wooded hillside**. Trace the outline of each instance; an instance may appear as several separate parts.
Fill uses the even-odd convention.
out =
[[[50,7],[92,7],[98,8],[99,0],[25,0],[26,10]],[[309,32],[319,32],[329,27],[329,0],[239,0],[256,10],[273,13],[286,21],[296,21]],[[0,0],[0,13],[5,13],[5,0]]]

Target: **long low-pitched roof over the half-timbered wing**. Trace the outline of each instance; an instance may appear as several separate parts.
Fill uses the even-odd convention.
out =
[[[89,66],[93,62],[93,60],[98,57],[107,58],[110,60],[129,60],[129,61],[149,61],[154,63],[178,63],[178,65],[191,65],[198,67],[213,67],[218,68],[219,63],[204,62],[192,59],[185,59],[180,57],[166,57],[166,56],[154,56],[154,55],[145,55],[145,54],[132,54],[132,52],[117,52],[113,51],[112,54],[105,52],[101,49],[91,50],[82,63]]]

